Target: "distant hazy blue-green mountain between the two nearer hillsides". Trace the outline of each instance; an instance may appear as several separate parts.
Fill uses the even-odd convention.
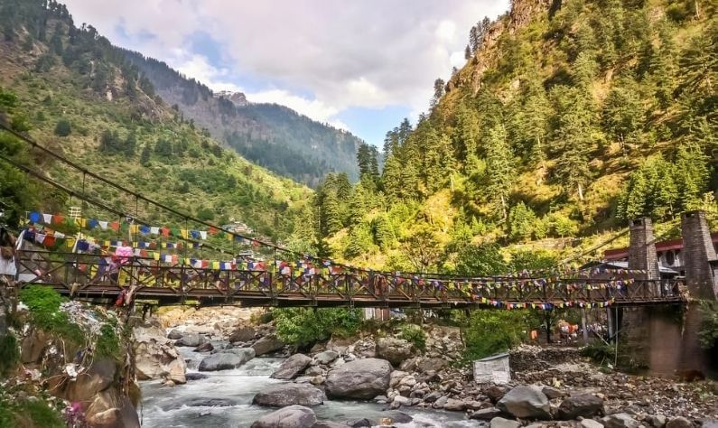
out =
[[[358,137],[287,107],[247,102],[241,93],[213,93],[163,61],[123,52],[165,102],[250,161],[312,187],[331,171],[359,178]]]

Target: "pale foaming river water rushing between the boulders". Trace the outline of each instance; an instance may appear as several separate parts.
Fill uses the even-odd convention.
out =
[[[221,342],[213,343],[219,345]],[[180,348],[188,359],[188,372],[196,372],[202,358],[208,353],[193,352]],[[279,383],[269,375],[282,363],[280,358],[253,358],[241,368],[202,372],[208,378],[191,380],[186,385],[167,387],[160,381],[142,383],[143,402],[140,418],[144,427],[248,427],[263,414],[275,409],[252,405],[252,398],[264,386]],[[317,419],[343,422],[367,418],[378,421],[390,414],[383,406],[353,401],[327,401],[313,407]],[[414,417],[412,423],[396,423],[402,428],[429,427],[478,427],[477,421],[465,419],[460,412],[429,411],[408,407],[402,409]]]

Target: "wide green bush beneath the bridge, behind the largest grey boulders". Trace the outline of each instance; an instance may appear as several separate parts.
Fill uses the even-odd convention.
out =
[[[327,340],[332,334],[351,336],[359,330],[358,309],[276,309],[276,334],[286,343],[300,346]]]

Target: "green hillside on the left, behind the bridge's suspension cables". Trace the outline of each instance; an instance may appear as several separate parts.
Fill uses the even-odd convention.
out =
[[[234,219],[282,239],[295,224],[306,223],[309,189],[247,162],[183,119],[124,51],[91,25],[76,27],[64,5],[2,0],[0,32],[0,114],[16,131],[90,172],[200,219],[219,224]],[[182,221],[51,162],[7,133],[0,138],[3,154],[74,191],[143,219]],[[70,206],[98,219],[109,215],[28,180],[5,163],[0,176],[0,200],[15,219],[25,210],[66,213]]]

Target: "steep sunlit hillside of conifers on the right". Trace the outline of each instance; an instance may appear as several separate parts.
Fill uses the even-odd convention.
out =
[[[550,248],[540,262],[640,215],[714,211],[717,15],[706,0],[516,0],[479,21],[429,112],[387,133],[383,172],[324,181],[322,251],[495,273],[482,264],[504,263],[499,247]]]

